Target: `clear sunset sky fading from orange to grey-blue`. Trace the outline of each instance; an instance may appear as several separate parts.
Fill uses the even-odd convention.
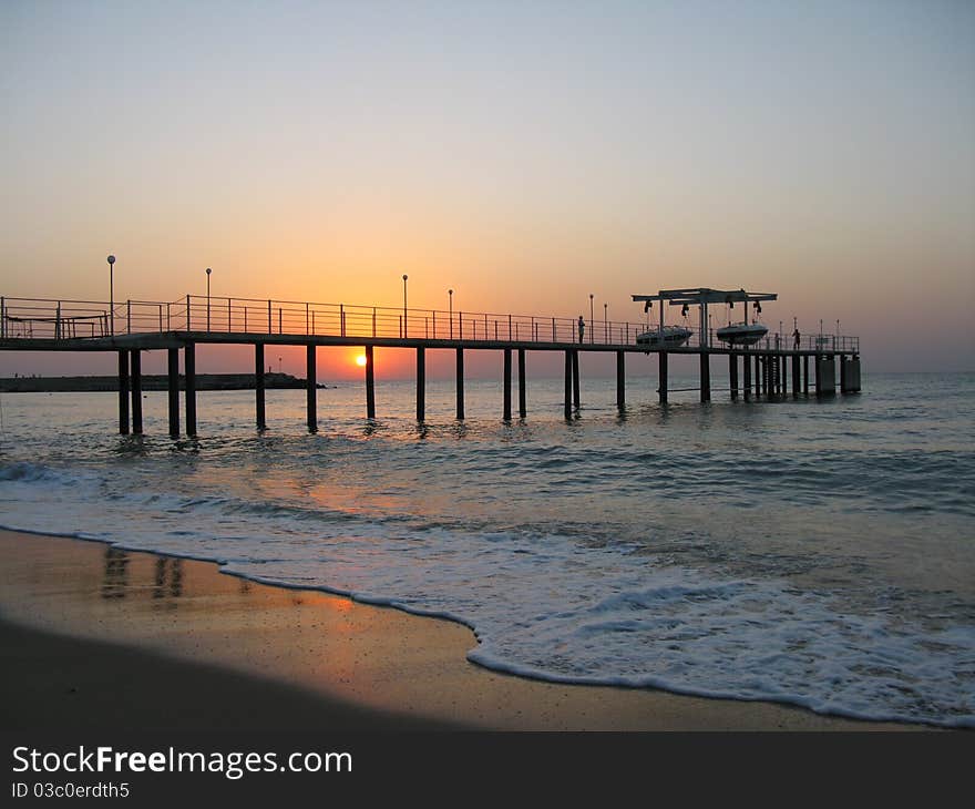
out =
[[[106,299],[110,252],[121,299],[207,266],[214,295],[397,306],[408,273],[411,306],[634,320],[745,287],[770,325],[840,318],[866,370],[975,368],[964,0],[3,0],[0,103],[3,295]]]

